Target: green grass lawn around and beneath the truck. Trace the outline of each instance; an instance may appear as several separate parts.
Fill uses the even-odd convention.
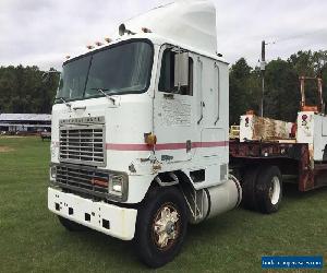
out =
[[[14,151],[0,152],[0,272],[149,271],[130,242],[69,233],[48,211],[49,142],[0,138],[1,146]],[[238,209],[191,226],[182,252],[157,272],[262,272],[264,254],[323,254],[327,262],[326,188],[290,186],[277,214]]]

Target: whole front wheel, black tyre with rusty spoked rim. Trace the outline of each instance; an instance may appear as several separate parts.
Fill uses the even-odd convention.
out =
[[[150,190],[137,213],[136,253],[150,268],[170,262],[186,235],[187,213],[183,195],[175,187]]]

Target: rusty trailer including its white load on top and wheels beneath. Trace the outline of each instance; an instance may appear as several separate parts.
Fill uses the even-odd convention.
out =
[[[305,81],[317,83],[318,104],[308,105]],[[300,76],[301,108],[295,122],[257,117],[252,110],[230,128],[230,173],[243,190],[243,205],[278,211],[282,182],[299,191],[327,186],[327,115],[320,78]]]

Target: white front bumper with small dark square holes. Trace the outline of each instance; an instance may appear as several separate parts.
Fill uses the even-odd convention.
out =
[[[137,210],[94,202],[53,188],[48,188],[48,207],[62,217],[112,237],[122,240],[134,237]]]

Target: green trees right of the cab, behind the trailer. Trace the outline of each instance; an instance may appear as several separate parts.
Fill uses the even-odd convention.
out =
[[[294,121],[300,109],[299,76],[323,78],[323,95],[327,102],[327,51],[299,51],[287,60],[278,58],[268,62],[265,70],[264,116]],[[244,58],[230,68],[230,123],[238,124],[240,115],[254,110],[259,115],[262,98],[262,73],[251,68]],[[317,103],[315,82],[305,84],[306,100]],[[325,93],[324,93],[325,91]]]

